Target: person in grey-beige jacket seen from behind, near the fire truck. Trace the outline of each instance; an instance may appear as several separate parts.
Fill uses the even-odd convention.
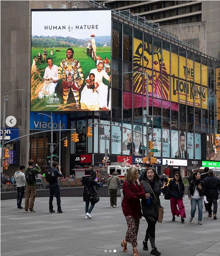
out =
[[[113,172],[112,177],[108,179],[108,190],[110,194],[110,207],[118,207],[117,206],[117,191],[118,186],[121,184],[120,179],[117,176],[116,172]]]

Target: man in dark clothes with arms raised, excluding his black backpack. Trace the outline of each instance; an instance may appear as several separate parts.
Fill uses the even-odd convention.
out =
[[[55,212],[53,209],[53,196],[55,195],[57,199],[57,212],[63,213],[60,205],[60,186],[58,183],[58,177],[63,177],[63,174],[60,171],[60,166],[58,165],[58,162],[53,161],[52,166],[53,166],[53,172],[56,177],[56,180],[53,183],[49,183],[49,189],[50,189],[49,211],[51,213]]]

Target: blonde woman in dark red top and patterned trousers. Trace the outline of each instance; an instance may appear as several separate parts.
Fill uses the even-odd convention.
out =
[[[133,247],[134,256],[139,256],[137,251],[137,233],[140,219],[142,217],[140,199],[146,194],[139,179],[138,169],[131,167],[127,172],[127,180],[123,183],[124,199],[122,201],[122,211],[127,222],[127,232],[125,239],[121,241],[124,252],[127,252],[127,243]]]

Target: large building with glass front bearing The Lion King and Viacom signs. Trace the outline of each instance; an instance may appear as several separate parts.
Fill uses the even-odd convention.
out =
[[[53,15],[68,19],[56,19],[62,23],[55,23],[50,19]],[[96,17],[97,21],[85,25],[84,17]],[[8,93],[6,117],[16,117],[13,128],[19,137],[32,134],[6,144],[11,154],[8,174],[14,174],[18,164],[27,165],[28,159],[44,172],[50,166],[50,143],[65,137],[68,147],[62,142],[52,156],[60,160],[65,176],[77,166],[101,166],[105,153],[109,162],[143,163],[148,155],[147,138],[154,143],[159,174],[169,170],[172,175],[179,170],[186,176],[194,166],[219,166],[218,59],[155,23],[94,1],[3,1],[1,27],[2,92],[25,90]],[[101,36],[97,36],[99,29]],[[80,34],[82,31],[88,34]],[[69,48],[74,49],[74,63]],[[34,56],[44,55],[44,49],[59,67],[58,82],[45,78],[49,62],[43,56],[36,65]],[[96,92],[91,89],[96,90],[98,84],[95,79],[93,88],[92,79],[99,74],[99,57],[102,61],[107,57],[108,66],[98,83],[103,97],[93,97]],[[45,81],[56,84],[50,97]],[[92,96],[85,97],[84,89]],[[98,108],[93,104],[92,109],[85,102],[95,100],[95,95]],[[1,99],[3,110],[3,93]],[[107,104],[101,103],[103,99]],[[60,127],[61,135],[55,131]],[[93,128],[92,137],[86,137],[87,127]],[[71,142],[74,131],[79,134],[75,143]],[[8,140],[13,138],[13,129],[7,127],[6,132]]]

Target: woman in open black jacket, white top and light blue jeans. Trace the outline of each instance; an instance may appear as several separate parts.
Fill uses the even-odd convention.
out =
[[[193,173],[193,180],[190,182],[188,188],[188,197],[191,203],[191,217],[189,222],[192,222],[192,219],[195,217],[196,205],[198,205],[198,224],[202,225],[202,197],[204,189],[201,185],[201,175],[199,172]]]

